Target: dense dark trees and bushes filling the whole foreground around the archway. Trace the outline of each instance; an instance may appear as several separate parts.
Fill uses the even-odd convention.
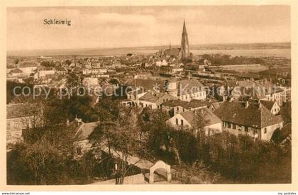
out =
[[[36,101],[43,107],[45,126],[24,130],[24,142],[7,152],[8,184],[86,184],[95,177],[111,178],[111,155],[115,155],[111,150],[121,160],[118,184],[133,168],[127,163],[128,155],[164,160],[187,175],[184,183],[291,182],[289,143],[281,147],[228,133],[206,136],[202,131],[206,121],[200,116],[194,129],[176,130],[165,122],[167,113],[125,108],[114,97],[103,96],[97,104],[89,96]],[[75,158],[74,132],[65,126],[75,116],[100,121],[89,139],[106,143],[107,158],[98,160],[92,151]]]

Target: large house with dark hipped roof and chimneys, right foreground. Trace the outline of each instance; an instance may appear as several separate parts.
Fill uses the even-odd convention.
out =
[[[282,116],[275,116],[260,102],[224,101],[214,113],[223,121],[223,130],[260,140],[269,141],[274,131],[283,126]]]

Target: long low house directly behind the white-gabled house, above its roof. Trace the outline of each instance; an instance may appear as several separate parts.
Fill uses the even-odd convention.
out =
[[[207,108],[207,106],[208,102],[197,99],[192,99],[192,101],[174,99],[162,103],[162,109],[167,111],[171,117],[177,113],[182,113],[184,111],[195,111],[200,108]]]

